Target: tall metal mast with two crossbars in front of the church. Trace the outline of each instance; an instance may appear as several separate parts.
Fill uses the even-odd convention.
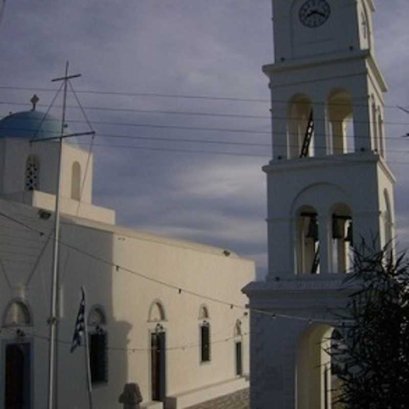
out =
[[[64,135],[65,129],[65,111],[66,111],[66,98],[67,98],[67,85],[70,79],[81,77],[81,74],[68,75],[69,62],[65,65],[65,75],[63,77],[55,78],[52,81],[64,81],[64,93],[62,101],[62,119],[61,119],[61,133],[59,137],[41,138],[31,140],[30,142],[42,142],[50,140],[58,140],[58,169],[57,169],[57,189],[55,195],[55,221],[54,221],[54,249],[53,249],[53,268],[51,276],[51,302],[50,302],[50,318],[48,324],[50,326],[50,346],[49,346],[49,389],[48,389],[48,409],[54,407],[54,382],[56,377],[55,368],[55,354],[56,354],[56,333],[57,333],[57,284],[58,284],[58,243],[59,243],[59,231],[60,231],[60,184],[61,184],[61,157],[62,157],[62,141],[64,138],[70,138],[80,135],[93,135],[94,131],[83,133],[72,133]]]

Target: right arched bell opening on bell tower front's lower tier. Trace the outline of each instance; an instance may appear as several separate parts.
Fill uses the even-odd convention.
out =
[[[344,203],[333,206],[331,211],[333,272],[347,272],[351,268],[352,226],[351,209]]]

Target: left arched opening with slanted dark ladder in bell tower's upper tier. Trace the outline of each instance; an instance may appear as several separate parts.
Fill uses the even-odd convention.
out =
[[[312,129],[310,126],[311,123],[313,124],[311,99],[304,94],[293,96],[289,102],[287,118],[288,157],[313,156],[313,126]]]

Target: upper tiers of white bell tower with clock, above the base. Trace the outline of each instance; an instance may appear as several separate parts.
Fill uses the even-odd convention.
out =
[[[274,0],[273,9],[276,62],[263,67],[272,103],[269,276],[343,272],[347,243],[394,237],[374,3]]]

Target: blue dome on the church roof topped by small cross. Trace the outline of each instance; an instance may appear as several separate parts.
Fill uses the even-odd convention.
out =
[[[16,112],[0,121],[0,138],[43,139],[60,134],[61,121],[40,111]],[[75,137],[67,138],[65,142],[78,147]]]

